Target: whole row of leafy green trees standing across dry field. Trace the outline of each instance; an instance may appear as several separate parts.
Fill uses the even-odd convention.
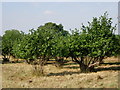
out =
[[[79,64],[81,72],[94,71],[94,66],[106,57],[120,53],[120,35],[115,35],[116,26],[107,13],[99,18],[94,17],[88,26],[80,30],[63,29],[61,24],[49,22],[31,29],[28,34],[18,30],[7,30],[2,37],[2,55],[4,60],[9,56],[30,60],[45,61],[54,58],[61,61],[71,57]]]

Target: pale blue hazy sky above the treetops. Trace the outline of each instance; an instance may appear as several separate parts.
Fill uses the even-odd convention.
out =
[[[118,23],[117,2],[2,2],[2,32],[17,29],[28,33],[47,22],[62,24],[65,30],[80,29],[93,17],[108,12]],[[116,31],[117,32],[117,31]]]

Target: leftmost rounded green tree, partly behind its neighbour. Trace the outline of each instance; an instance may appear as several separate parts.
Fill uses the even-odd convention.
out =
[[[2,55],[4,60],[9,60],[10,56],[13,56],[13,45],[19,39],[21,39],[21,33],[18,30],[5,31],[2,37]]]

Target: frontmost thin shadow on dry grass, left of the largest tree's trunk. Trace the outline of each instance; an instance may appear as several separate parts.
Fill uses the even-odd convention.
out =
[[[47,76],[64,76],[64,75],[73,75],[80,74],[80,72],[64,71],[60,73],[49,73]]]

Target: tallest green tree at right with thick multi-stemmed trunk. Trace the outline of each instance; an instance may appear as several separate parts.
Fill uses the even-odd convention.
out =
[[[105,57],[114,56],[119,49],[118,39],[114,34],[112,19],[104,13],[93,18],[88,26],[82,25],[82,32],[75,31],[69,43],[70,56],[80,65],[81,72],[94,71],[94,66]]]

